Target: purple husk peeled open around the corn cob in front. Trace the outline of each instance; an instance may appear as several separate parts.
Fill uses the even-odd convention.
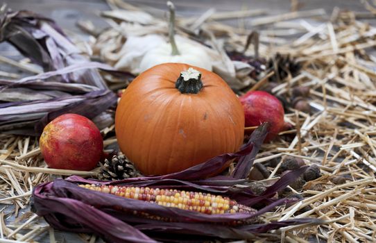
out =
[[[203,164],[196,165],[196,167],[214,167],[214,169],[218,169],[228,160],[233,158],[242,160],[250,153],[255,154],[253,152],[259,149],[259,146],[255,146],[255,144],[262,143],[262,140],[267,134],[266,126],[260,126],[255,133],[256,135],[251,137],[250,141],[242,146],[241,151],[217,156]],[[248,162],[252,162],[253,159],[254,158],[247,157]],[[200,174],[200,176],[189,176],[187,171],[197,171],[194,167],[165,176],[128,178],[121,181],[97,181],[81,178],[79,176],[70,176],[66,180],[57,179],[53,182],[44,183],[35,187],[33,191],[33,208],[38,215],[44,216],[46,221],[54,228],[65,231],[96,233],[109,242],[139,242],[139,239],[144,240],[144,242],[153,239],[176,241],[180,239],[182,235],[188,235],[188,238],[186,237],[187,241],[190,237],[194,241],[198,236],[209,237],[208,239],[252,239],[253,233],[263,233],[282,226],[306,223],[318,224],[319,221],[317,219],[292,219],[288,221],[271,222],[270,224],[257,223],[257,217],[260,215],[272,210],[275,206],[289,202],[286,199],[275,201],[272,200],[271,197],[278,190],[283,189],[286,185],[295,181],[305,169],[307,169],[307,167],[302,167],[301,169],[285,174],[273,185],[268,187],[266,192],[259,196],[252,194],[249,188],[246,187],[247,181],[245,178],[237,179],[231,176],[205,178],[205,175],[207,175],[205,173]],[[207,169],[207,171],[212,170]],[[237,184],[235,184],[235,182],[241,184],[242,187],[236,187],[235,185]],[[264,206],[261,210],[254,210],[249,213],[237,212],[234,214],[206,215],[200,212],[159,206],[146,201],[126,199],[121,196],[96,192],[78,186],[78,184],[86,183],[96,185],[147,186],[210,192],[212,194],[229,196],[230,199],[234,199],[238,203],[253,200],[253,202],[267,201],[268,205]],[[98,211],[101,212],[99,216]],[[75,215],[74,212],[76,212],[77,215]],[[83,216],[81,212],[85,212],[85,215],[89,215],[89,219]],[[148,215],[160,217],[168,221],[142,217],[137,213],[135,215],[133,212],[148,213]],[[92,215],[96,216],[92,217]],[[105,221],[103,225],[101,223],[102,219]],[[116,220],[121,221],[121,223],[117,221],[117,224],[115,224],[119,227],[108,230],[108,222]],[[129,229],[128,227],[130,226],[134,228]],[[128,235],[128,233],[132,234]],[[133,238],[134,234],[139,235],[140,238],[135,240]],[[125,238],[128,236],[130,238]]]

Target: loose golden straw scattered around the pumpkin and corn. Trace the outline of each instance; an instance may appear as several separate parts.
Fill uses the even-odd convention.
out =
[[[291,1],[295,3],[296,1]],[[108,1],[114,9],[140,10],[122,1]],[[288,108],[286,121],[293,124],[292,130],[282,133],[293,135],[285,141],[283,136],[270,144],[264,144],[255,162],[267,162],[273,158],[295,156],[307,165],[316,164],[322,176],[306,183],[298,193],[304,196],[293,206],[280,206],[275,212],[263,216],[264,221],[300,217],[323,219],[319,226],[290,226],[270,234],[257,236],[257,242],[375,242],[376,237],[376,28],[367,24],[363,17],[375,16],[375,9],[366,2],[369,12],[354,13],[335,8],[332,13],[324,10],[292,10],[283,15],[268,16],[264,10],[240,10],[237,12],[214,12],[209,10],[198,17],[178,16],[178,26],[196,30],[205,26],[213,33],[213,41],[225,37],[233,49],[241,50],[250,32],[242,26],[245,18],[251,17],[250,26],[260,34],[259,56],[272,58],[275,53],[289,54],[300,63],[302,69],[296,76],[287,76],[272,92],[287,95],[291,87],[310,87],[311,112]],[[294,8],[294,4],[291,6]],[[145,11],[157,12],[151,8]],[[158,12],[157,12],[158,13]],[[159,12],[157,23],[164,21]],[[239,26],[222,24],[225,19],[239,19]],[[86,49],[101,46],[106,36],[121,34],[120,19],[106,12],[105,20],[111,28],[104,33],[89,37]],[[116,20],[116,21],[115,21]],[[85,31],[94,31],[90,22],[81,22]],[[155,27],[159,28],[159,27]],[[105,35],[105,36],[103,36]],[[72,39],[78,40],[72,33]],[[123,42],[115,42],[120,48]],[[89,47],[90,46],[90,47]],[[94,47],[94,48],[93,48]],[[254,55],[253,49],[247,51]],[[103,54],[103,53],[101,53]],[[105,55],[105,53],[103,54]],[[19,69],[28,67],[28,62],[12,62]],[[266,71],[264,77],[271,74]],[[8,72],[0,75],[17,77]],[[117,83],[118,82],[118,83]],[[261,87],[268,78],[251,81],[250,87]],[[110,81],[114,90],[123,86],[119,81]],[[113,126],[102,132],[113,131]],[[115,137],[105,140],[105,145],[114,144]],[[49,237],[55,242],[54,231],[43,219],[29,212],[31,192],[35,185],[49,181],[55,176],[95,176],[94,171],[67,171],[46,167],[34,137],[0,134],[0,242],[36,242]],[[275,178],[278,166],[265,181]],[[333,183],[331,178],[343,176],[345,181]],[[311,210],[297,212],[310,206]],[[49,234],[49,236],[48,236]],[[81,235],[85,242],[95,242],[92,235]],[[5,240],[8,239],[8,240]]]

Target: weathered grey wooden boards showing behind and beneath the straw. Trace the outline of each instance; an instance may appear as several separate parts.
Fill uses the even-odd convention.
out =
[[[76,26],[79,20],[90,19],[98,28],[105,28],[106,23],[100,18],[101,10],[109,10],[109,6],[105,0],[5,0],[0,1],[6,3],[13,10],[32,10],[34,12],[51,17],[63,28],[67,33],[74,31],[80,33]],[[132,0],[126,1],[135,6],[151,6],[160,9],[160,15],[166,10],[166,0]],[[290,0],[174,0],[177,8],[177,14],[182,16],[200,15],[209,8],[215,8],[219,11],[248,9],[266,9],[269,14],[277,15],[290,10]],[[357,0],[299,0],[300,10],[311,10],[316,8],[324,8],[327,15],[330,16],[334,7],[348,9],[354,12],[366,12],[361,1]],[[246,19],[246,23],[247,23]],[[371,24],[376,24],[376,19],[367,19]],[[230,21],[230,24],[236,25],[237,20]],[[246,27],[251,28],[251,26]],[[0,44],[0,55],[14,53],[12,49],[4,43]],[[9,67],[8,67],[9,68]],[[6,70],[7,67],[0,65],[0,70]],[[50,242],[49,234],[44,233],[38,242]],[[55,240],[58,242],[87,242],[79,235],[72,233],[62,233],[55,231]],[[102,242],[96,240],[96,242]]]

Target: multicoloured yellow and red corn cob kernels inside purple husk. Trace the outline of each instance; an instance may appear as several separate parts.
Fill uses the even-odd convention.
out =
[[[127,187],[117,185],[80,185],[89,190],[123,196],[127,199],[137,199],[157,203],[160,206],[180,208],[196,212],[212,214],[224,213],[254,213],[253,208],[243,206],[228,197],[206,194],[202,192],[185,192],[173,189],[150,187]]]

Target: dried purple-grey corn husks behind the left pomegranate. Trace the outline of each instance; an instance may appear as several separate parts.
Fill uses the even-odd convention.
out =
[[[0,11],[3,41],[40,65],[44,73],[18,81],[0,80],[1,132],[37,136],[51,119],[65,113],[94,119],[99,129],[113,123],[108,109],[114,110],[117,96],[97,69],[119,72],[91,62],[53,20],[27,10]],[[121,75],[132,78],[125,72]]]

